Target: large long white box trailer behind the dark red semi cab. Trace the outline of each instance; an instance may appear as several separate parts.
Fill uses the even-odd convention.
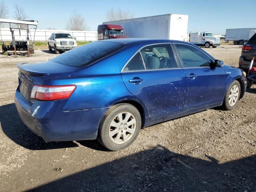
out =
[[[165,14],[103,22],[103,24],[121,25],[128,38],[187,40],[188,15]]]

